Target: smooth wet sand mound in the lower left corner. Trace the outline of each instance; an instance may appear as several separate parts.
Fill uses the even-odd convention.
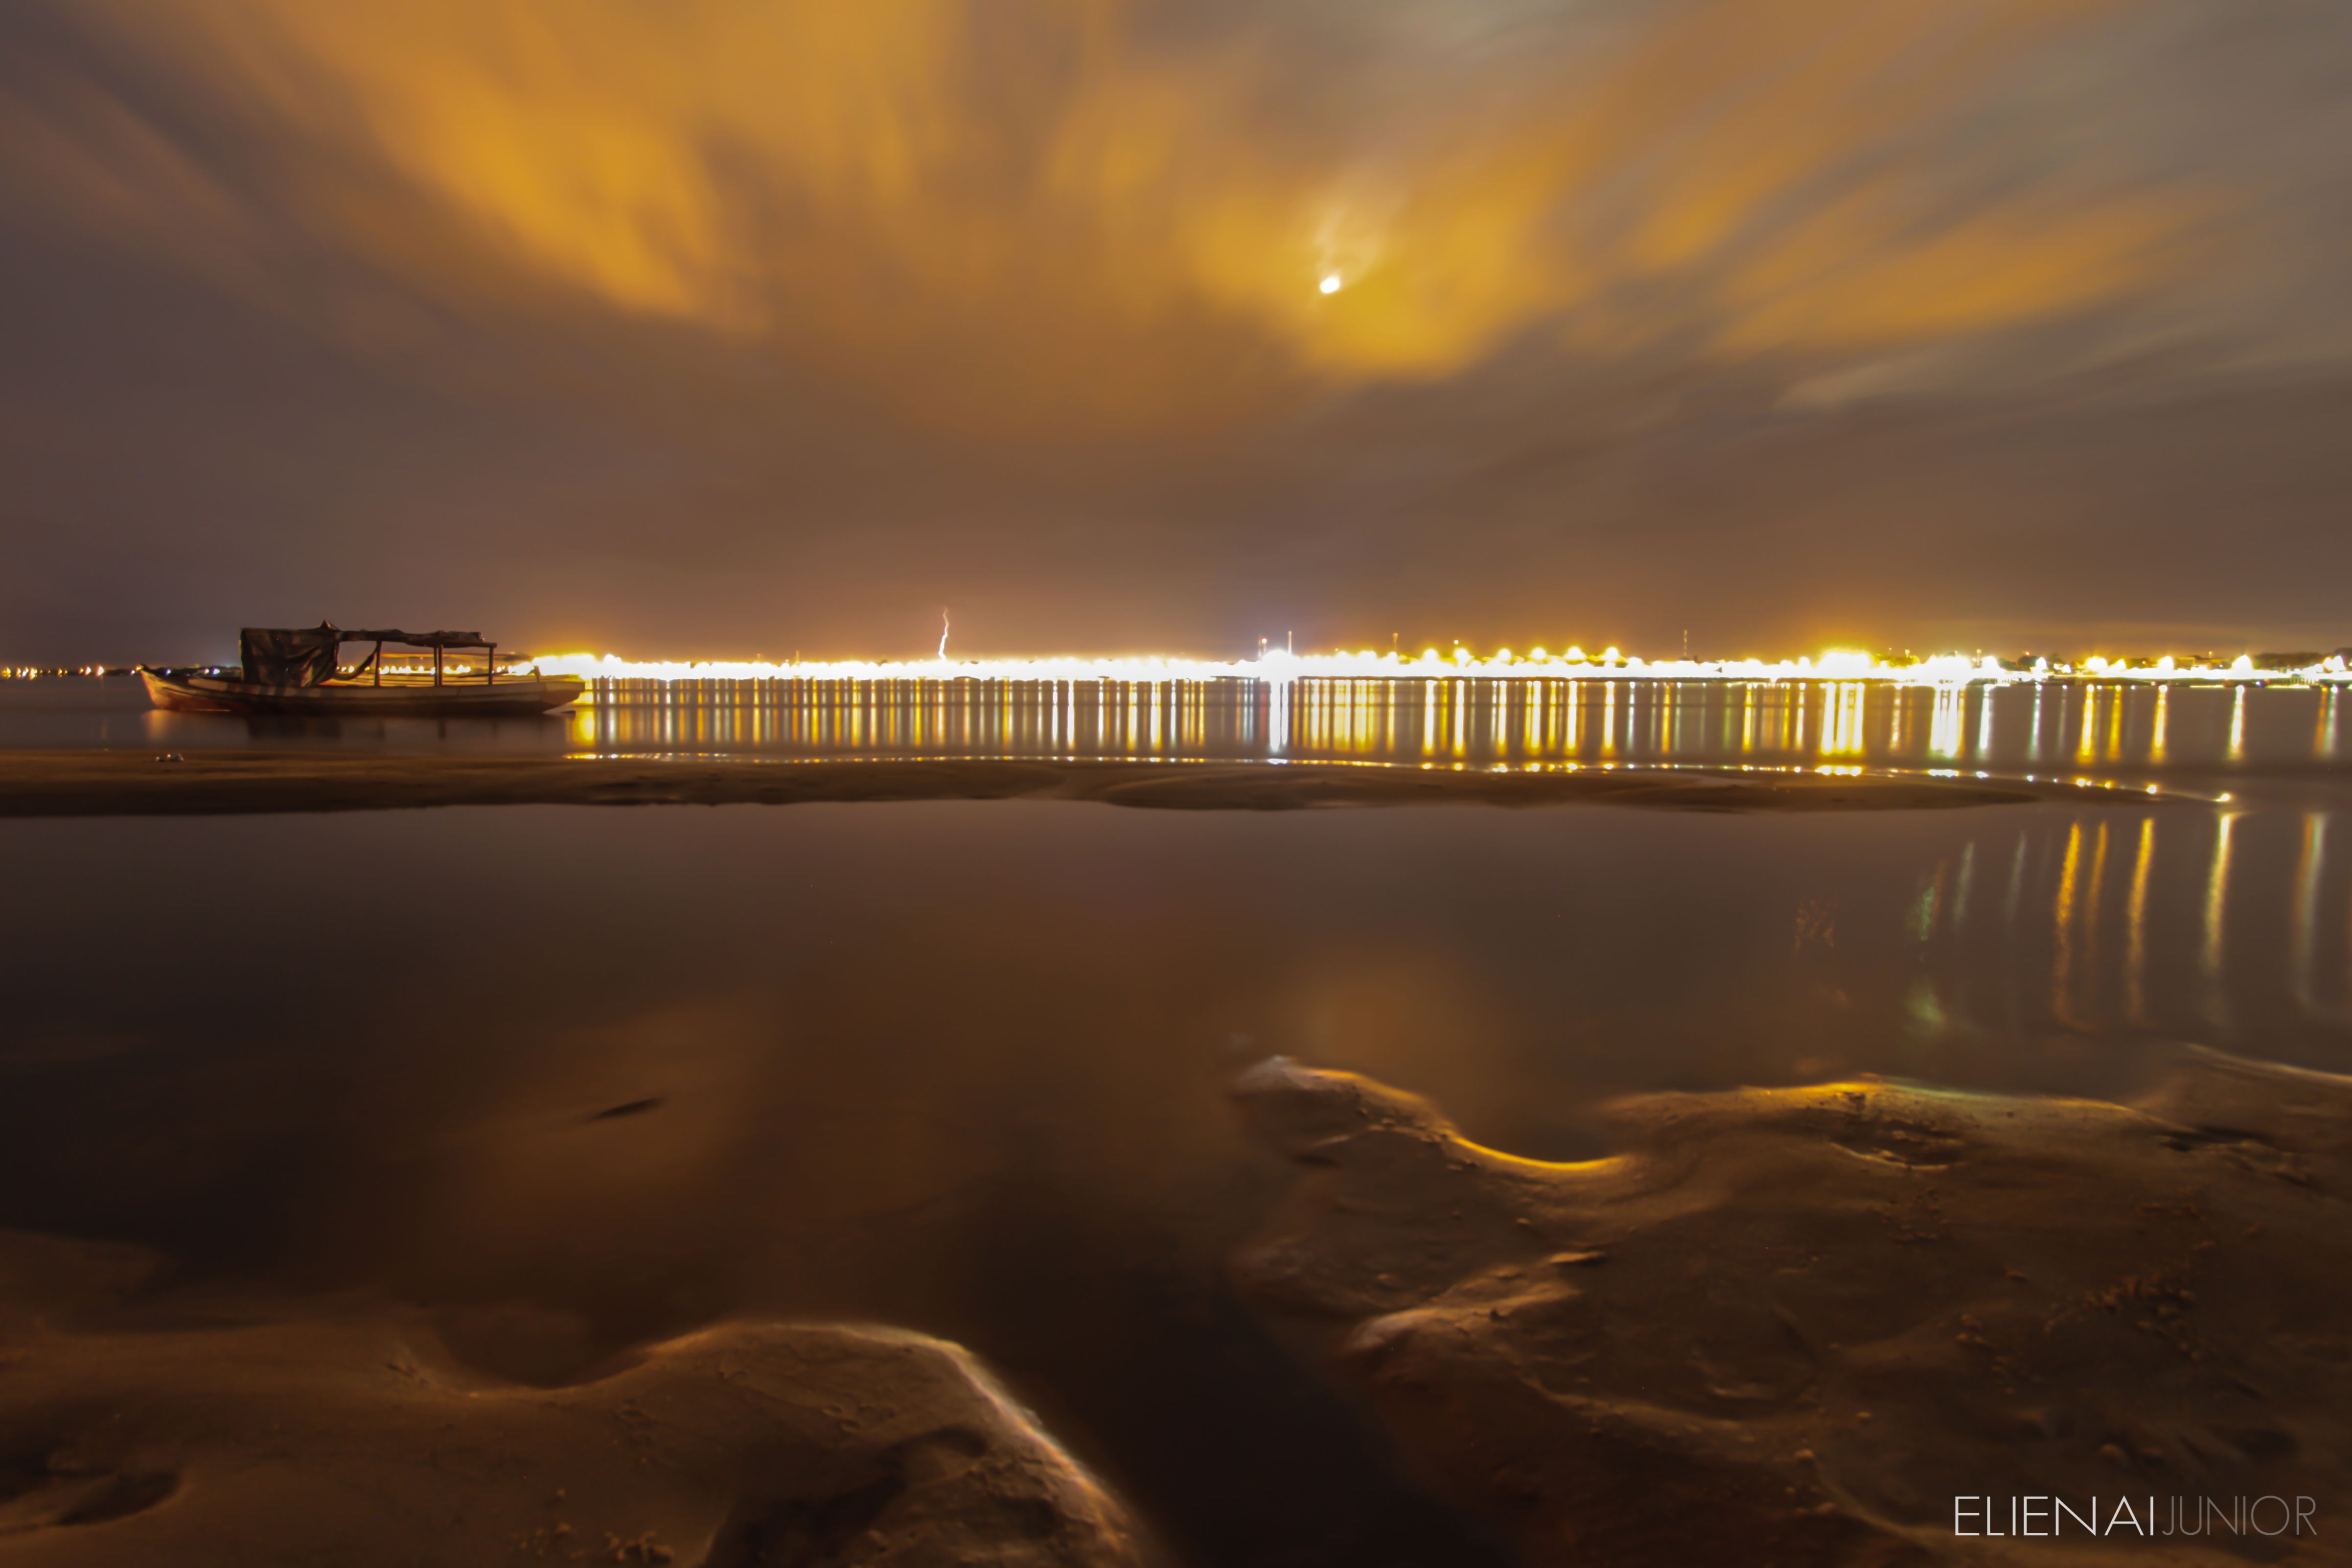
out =
[[[724,1324],[569,1387],[388,1307],[122,1298],[127,1248],[0,1234],[0,1563],[1101,1568],[1117,1507],[953,1345]]]

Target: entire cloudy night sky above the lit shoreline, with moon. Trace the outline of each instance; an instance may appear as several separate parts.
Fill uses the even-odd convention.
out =
[[[0,0],[0,661],[2333,649],[2347,280],[2343,0]]]

